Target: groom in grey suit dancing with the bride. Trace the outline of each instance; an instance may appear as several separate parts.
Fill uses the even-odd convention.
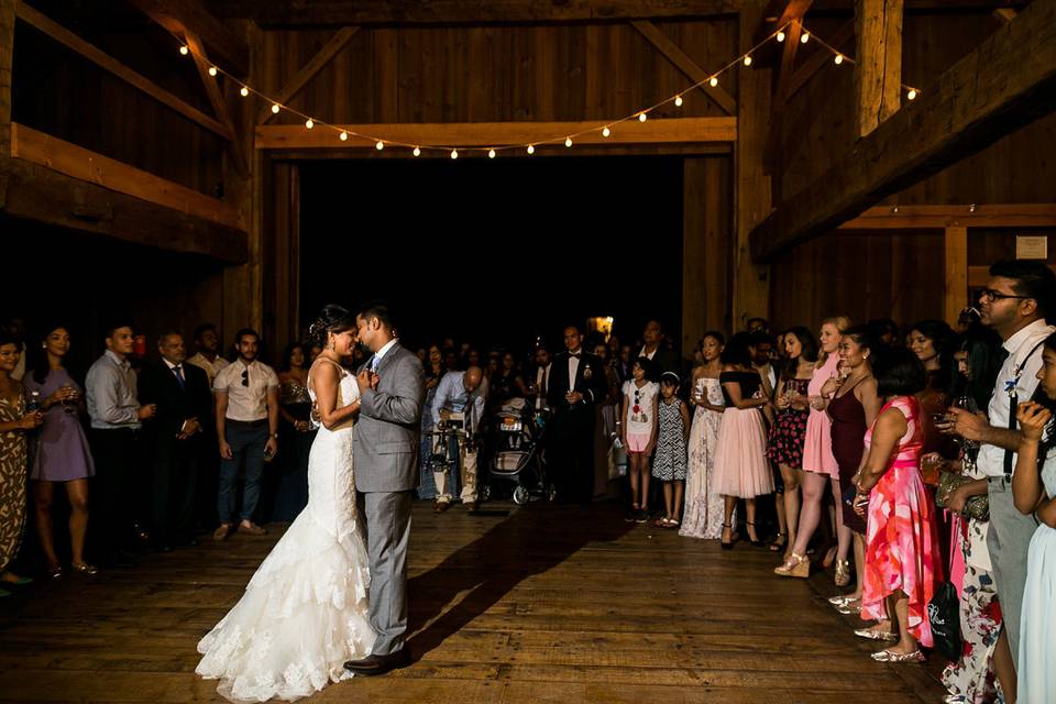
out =
[[[355,488],[366,517],[371,563],[371,625],[377,639],[355,674],[383,674],[410,662],[407,632],[407,542],[411,491],[418,484],[425,375],[421,362],[396,340],[388,307],[365,306],[355,318],[360,342],[374,355],[360,370],[355,425]]]

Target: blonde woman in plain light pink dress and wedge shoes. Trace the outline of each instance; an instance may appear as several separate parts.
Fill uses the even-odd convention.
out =
[[[795,543],[783,564],[774,568],[774,574],[781,576],[807,578],[811,573],[811,563],[806,558],[806,546],[814,537],[814,531],[822,518],[822,498],[825,496],[825,485],[833,485],[833,495],[839,497],[839,466],[833,457],[833,422],[825,413],[838,386],[829,384],[823,391],[826,382],[836,377],[836,365],[839,356],[839,341],[843,330],[850,328],[850,320],[844,316],[826,318],[822,321],[822,331],[818,336],[821,352],[817,364],[814,365],[814,375],[806,387],[811,404],[811,415],[806,418],[806,435],[803,437],[803,504],[800,507],[800,522],[795,534]],[[843,520],[836,512],[837,525]],[[837,534],[838,535],[838,534]],[[850,536],[847,536],[850,544]],[[846,550],[843,551],[846,554]],[[835,557],[835,551],[833,551]],[[827,566],[827,565],[826,565]]]

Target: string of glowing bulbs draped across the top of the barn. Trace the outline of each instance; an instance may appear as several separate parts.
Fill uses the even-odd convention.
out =
[[[788,30],[788,28],[789,28],[790,25],[791,25],[791,23],[785,24],[785,25],[782,26],[780,30],[778,30],[773,35],[771,35],[769,38],[763,40],[763,41],[760,42],[758,45],[752,46],[752,47],[749,48],[746,53],[741,54],[739,57],[733,59],[732,62],[729,62],[728,64],[726,64],[725,66],[723,66],[722,68],[719,68],[717,72],[715,72],[714,74],[712,74],[712,75],[707,78],[707,84],[708,84],[712,88],[717,88],[717,87],[718,87],[718,77],[719,77],[721,75],[727,73],[727,72],[730,70],[732,68],[735,68],[738,62],[740,62],[741,64],[744,64],[744,66],[751,66],[752,61],[754,61],[751,54],[752,54],[754,52],[756,52],[757,50],[759,50],[763,44],[766,44],[767,42],[769,42],[771,38],[777,40],[779,43],[784,42],[785,38],[788,38],[788,36],[787,36],[787,30]],[[188,46],[185,42],[183,42],[183,41],[182,41],[182,37],[176,36],[175,34],[174,34],[174,37],[179,42],[179,53],[180,53],[182,55],[187,56],[188,54],[191,54],[191,53],[193,53],[190,46]],[[803,44],[806,44],[806,43],[810,41],[810,38],[811,38],[810,32],[803,30],[803,32],[800,34],[800,42],[803,43]],[[832,52],[832,54],[833,54],[833,63],[834,63],[835,65],[839,66],[839,65],[842,65],[845,61],[850,62],[851,64],[856,63],[853,57],[846,56],[846,55],[844,55],[843,53],[838,52],[834,46],[825,43],[824,40],[818,40],[818,43],[820,43],[824,48],[826,48],[826,50],[828,50],[829,52]],[[196,55],[196,56],[197,56],[197,55]],[[200,57],[200,58],[202,58],[204,62],[206,61],[206,57],[204,57],[204,56]],[[258,95],[261,98],[263,98],[263,99],[265,99],[265,100],[268,100],[268,96],[266,96],[265,94],[262,94],[262,92],[260,92],[260,91],[256,91],[256,90],[251,89],[248,85],[243,84],[242,81],[238,80],[238,78],[235,78],[235,77],[227,74],[226,72],[222,72],[221,68],[219,68],[218,66],[216,66],[216,65],[213,65],[213,64],[209,64],[207,70],[208,70],[208,73],[209,73],[210,76],[216,77],[216,76],[218,76],[220,73],[224,73],[224,75],[227,75],[229,78],[233,79],[233,84],[237,85],[237,86],[240,86],[240,88],[239,88],[239,94],[240,94],[243,98],[248,98],[248,97],[250,96],[250,92],[255,92],[255,94]],[[691,86],[691,87],[690,87],[689,89],[686,89],[686,90],[691,90],[691,89],[693,89],[693,88],[698,88],[698,87],[701,87],[701,86],[703,86],[703,81],[702,81],[702,82],[694,84],[693,86]],[[912,86],[908,86],[908,85],[905,85],[905,84],[902,84],[902,88],[906,91],[906,99],[908,99],[908,100],[915,100],[916,97],[917,97],[917,95],[920,95],[920,90],[916,89],[916,88],[914,88],[914,87],[912,87]],[[645,121],[648,119],[648,112],[649,112],[650,110],[653,110],[653,109],[660,107],[661,105],[663,105],[663,103],[666,103],[666,102],[668,102],[668,101],[672,101],[672,102],[674,102],[674,106],[675,106],[676,108],[681,108],[682,105],[683,105],[683,102],[684,102],[683,94],[684,94],[684,90],[683,90],[683,92],[675,94],[674,96],[669,97],[669,98],[667,98],[666,100],[660,100],[659,102],[657,102],[657,103],[656,103],[654,106],[652,106],[652,107],[638,110],[638,111],[636,111],[636,112],[630,113],[630,114],[627,116],[627,117],[623,117],[623,118],[619,118],[619,119],[616,119],[616,120],[609,122],[608,124],[604,124],[604,125],[602,127],[602,130],[601,130],[602,136],[603,136],[603,138],[608,138],[608,136],[610,136],[612,133],[613,133],[613,132],[612,132],[612,125],[614,125],[614,124],[619,124],[620,122],[624,122],[624,121],[626,121],[626,120],[630,120],[630,119],[634,118],[634,117],[637,117],[639,122],[645,122]],[[301,112],[298,112],[297,110],[292,109],[292,108],[283,108],[283,106],[280,106],[278,102],[275,102],[274,100],[272,100],[271,102],[272,102],[272,108],[271,108],[272,113],[278,114],[279,112],[282,112],[282,111],[285,109],[285,110],[289,111],[290,113],[293,113],[294,116],[297,116],[297,117],[299,117],[299,118],[304,118],[304,119],[305,119],[305,128],[306,128],[306,129],[310,130],[310,129],[312,129],[312,128],[315,127],[315,121],[314,121],[311,118],[309,118],[308,116],[306,116],[306,114],[304,114],[304,113],[301,113]],[[333,127],[333,125],[330,125],[330,124],[327,124],[327,123],[323,123],[323,127],[324,127],[324,128],[329,128],[329,129],[333,129],[334,131],[339,131],[338,128],[336,128],[336,127]],[[587,128],[587,129],[583,130],[582,132],[576,132],[576,133],[573,133],[573,134],[570,134],[570,135],[565,136],[565,139],[564,139],[564,145],[565,145],[565,147],[571,147],[571,146],[572,146],[572,139],[573,139],[573,138],[579,136],[580,134],[587,133],[587,132],[593,132],[593,131],[595,131],[595,130],[597,130],[597,127],[596,127],[596,125],[595,125],[595,127],[592,127],[592,128]],[[385,142],[384,142],[384,140],[381,140],[381,139],[378,139],[378,138],[376,138],[376,136],[371,136],[370,134],[356,134],[356,136],[362,138],[362,139],[365,139],[365,140],[374,140],[374,141],[375,141],[374,146],[375,146],[375,148],[378,150],[378,151],[381,151],[381,150],[383,150],[383,148],[385,147]],[[340,139],[342,142],[346,142],[348,139],[349,139],[349,133],[348,133],[346,131],[344,131],[344,130],[340,130],[340,131],[339,131],[339,139]],[[560,136],[557,136],[557,135],[553,136],[553,138],[547,139],[547,140],[542,140],[542,142],[543,142],[543,143],[547,143],[547,144],[549,144],[549,143],[556,143],[556,142],[558,142],[558,141],[560,141]],[[408,144],[399,144],[399,146],[409,146],[409,145],[408,145]],[[528,152],[528,154],[534,154],[534,153],[535,153],[535,145],[534,145],[534,144],[521,144],[521,145],[518,145],[518,144],[504,144],[504,145],[501,145],[499,148],[512,148],[512,147],[517,147],[517,146],[524,146],[524,147],[526,148],[526,151]],[[447,147],[441,146],[441,145],[427,145],[426,148],[443,150],[443,148],[447,148]],[[469,148],[470,148],[471,151],[481,151],[481,147],[476,147],[476,146],[471,146],[471,147],[469,147]],[[414,150],[413,150],[413,153],[414,153],[415,156],[421,155],[421,145],[415,145],[415,147],[414,147]],[[490,158],[494,158],[495,155],[496,155],[496,150],[495,150],[494,147],[493,147],[493,148],[490,148],[488,152],[487,152],[487,155],[488,155]],[[458,151],[458,148],[452,148],[451,152],[450,152],[450,156],[451,156],[452,160],[458,158],[458,157],[459,157],[459,151]]]

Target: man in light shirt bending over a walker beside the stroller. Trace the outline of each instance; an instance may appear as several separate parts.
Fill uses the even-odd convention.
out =
[[[453,414],[461,414],[463,428],[468,440],[472,439],[481,425],[481,417],[484,414],[484,397],[486,387],[482,383],[484,372],[479,366],[471,366],[464,372],[448,372],[440,380],[437,386],[437,395],[432,399],[433,428],[441,421],[448,421]],[[459,481],[462,483],[462,505],[466,510],[476,509],[476,446],[462,439],[452,439],[444,448],[440,446],[438,450],[447,451],[448,457],[457,457],[459,462]],[[442,514],[451,507],[451,486],[448,482],[447,471],[433,472],[432,477],[437,483],[437,506],[436,513]]]

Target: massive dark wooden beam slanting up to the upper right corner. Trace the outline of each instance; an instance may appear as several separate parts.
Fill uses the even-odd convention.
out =
[[[1056,3],[1035,2],[751,233],[770,257],[1056,110]]]

